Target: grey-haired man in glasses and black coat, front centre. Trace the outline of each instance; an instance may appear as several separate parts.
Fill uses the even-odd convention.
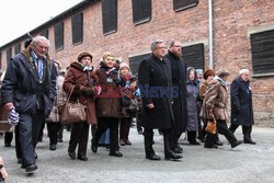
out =
[[[171,149],[174,118],[172,111],[172,79],[170,60],[164,58],[163,41],[151,44],[152,54],[145,58],[139,67],[139,88],[142,100],[142,126],[145,127],[145,150],[149,160],[160,160],[152,148],[153,128],[163,133],[164,157],[167,160],[181,159],[182,156]]]

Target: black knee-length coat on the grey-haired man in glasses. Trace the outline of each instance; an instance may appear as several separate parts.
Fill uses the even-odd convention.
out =
[[[172,87],[170,60],[160,60],[153,55],[145,58],[139,67],[138,79],[142,100],[141,125],[145,128],[173,128],[172,98],[164,92]],[[155,108],[146,106],[150,103],[155,104]]]

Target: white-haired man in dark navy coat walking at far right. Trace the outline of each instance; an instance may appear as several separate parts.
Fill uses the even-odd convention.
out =
[[[235,133],[238,126],[242,125],[243,142],[255,145],[256,142],[251,139],[254,117],[249,76],[248,69],[241,69],[240,76],[231,83],[231,126],[229,129]]]

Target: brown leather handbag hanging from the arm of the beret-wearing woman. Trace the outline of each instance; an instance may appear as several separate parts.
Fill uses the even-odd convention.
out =
[[[87,106],[77,101],[69,101],[73,92],[75,85],[71,87],[69,95],[61,111],[61,123],[80,123],[87,121]]]

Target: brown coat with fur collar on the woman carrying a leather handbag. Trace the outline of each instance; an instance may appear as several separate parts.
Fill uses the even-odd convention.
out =
[[[64,81],[64,91],[69,93],[71,85],[75,85],[75,90],[70,98],[71,101],[79,99],[80,103],[87,105],[88,123],[96,124],[96,114],[94,105],[94,95],[98,92],[98,89],[94,88],[94,84],[98,82],[98,77],[95,72],[84,71],[83,66],[80,62],[72,62],[68,70],[68,73]],[[94,94],[91,96],[85,96],[83,91],[92,90]]]

